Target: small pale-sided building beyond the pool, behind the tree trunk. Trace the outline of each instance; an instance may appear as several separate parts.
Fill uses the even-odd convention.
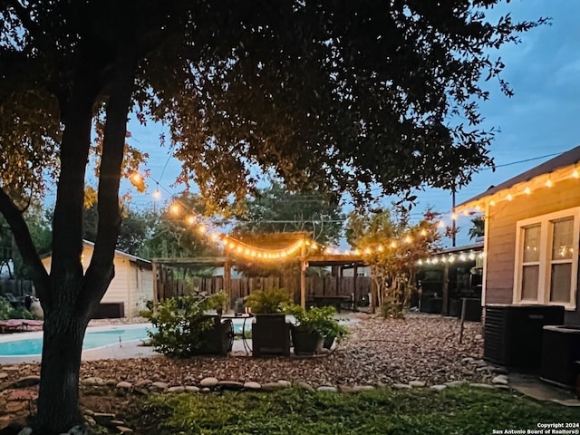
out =
[[[85,271],[91,264],[94,244],[82,241],[82,266]],[[52,256],[42,259],[44,268],[50,273]],[[153,300],[153,272],[151,262],[139,256],[131,256],[119,250],[113,258],[115,276],[102,298],[98,317],[134,317]],[[121,315],[122,314],[122,315]]]

